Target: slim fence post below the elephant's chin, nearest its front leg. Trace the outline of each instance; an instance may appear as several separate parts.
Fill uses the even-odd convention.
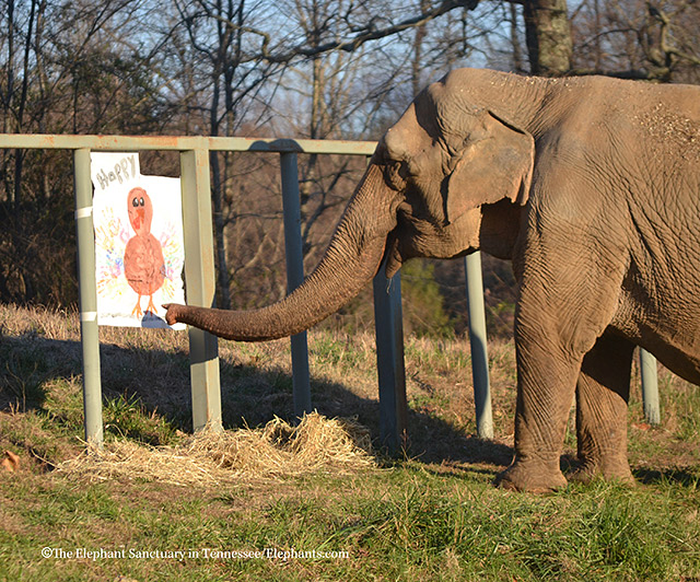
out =
[[[471,373],[474,376],[474,403],[477,415],[477,434],[481,439],[493,438],[491,415],[491,387],[489,358],[486,342],[486,313],[483,310],[483,280],[481,253],[465,257],[467,275],[467,304],[469,310],[469,342],[471,344]]]

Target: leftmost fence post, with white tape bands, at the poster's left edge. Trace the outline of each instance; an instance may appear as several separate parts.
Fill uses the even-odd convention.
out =
[[[92,220],[90,150],[73,154],[75,229],[78,235],[78,283],[80,293],[80,338],[83,354],[83,408],[85,441],[102,446],[102,383],[100,379],[100,333],[95,281],[95,231]]]

